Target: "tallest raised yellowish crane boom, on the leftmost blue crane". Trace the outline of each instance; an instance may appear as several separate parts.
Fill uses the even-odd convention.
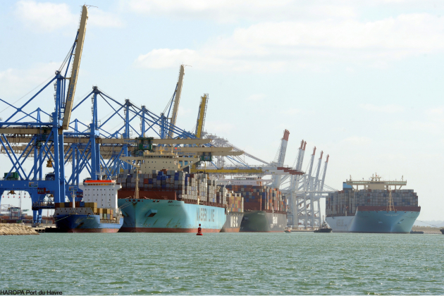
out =
[[[73,61],[73,70],[71,71],[71,77],[69,78],[68,94],[66,96],[65,114],[63,116],[62,123],[63,130],[68,130],[71,110],[73,109],[75,85],[77,85],[77,78],[79,75],[80,59],[82,58],[83,41],[85,40],[87,19],[88,8],[86,5],[84,5],[82,8],[82,17],[80,18],[78,37],[77,40],[75,40],[75,56]]]

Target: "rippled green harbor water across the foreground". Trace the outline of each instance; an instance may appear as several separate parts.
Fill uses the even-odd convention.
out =
[[[63,295],[443,295],[444,235],[0,237],[0,290]]]

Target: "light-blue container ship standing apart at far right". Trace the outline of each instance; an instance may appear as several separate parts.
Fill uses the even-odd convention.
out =
[[[410,233],[421,207],[414,190],[400,189],[405,185],[376,174],[370,180],[350,178],[343,190],[326,197],[326,221],[335,233]]]

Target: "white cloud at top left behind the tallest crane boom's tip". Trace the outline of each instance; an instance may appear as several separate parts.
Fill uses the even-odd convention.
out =
[[[80,13],[80,7],[77,12],[72,13],[68,4],[37,3],[32,0],[22,0],[16,4],[16,16],[27,27],[44,32],[78,26]],[[113,13],[101,11],[99,8],[90,8],[87,25],[121,27],[123,21]]]

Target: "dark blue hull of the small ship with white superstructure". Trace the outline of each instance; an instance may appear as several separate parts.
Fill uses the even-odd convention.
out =
[[[102,223],[99,215],[57,215],[56,227],[65,233],[116,233],[123,226],[119,223]]]

